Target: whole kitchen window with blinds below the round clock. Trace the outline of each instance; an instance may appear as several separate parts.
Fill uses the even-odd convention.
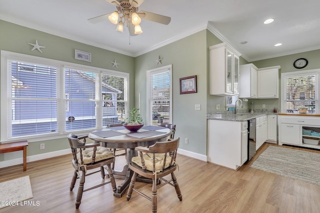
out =
[[[320,69],[281,74],[281,112],[298,113],[306,108],[307,113],[318,113],[318,74]]]

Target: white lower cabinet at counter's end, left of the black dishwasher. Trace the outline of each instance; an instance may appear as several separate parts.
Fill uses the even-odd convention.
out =
[[[247,121],[207,120],[207,161],[237,170],[247,160]]]

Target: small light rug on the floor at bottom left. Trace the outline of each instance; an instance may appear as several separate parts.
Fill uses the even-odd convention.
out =
[[[32,198],[29,176],[0,183],[0,209]]]

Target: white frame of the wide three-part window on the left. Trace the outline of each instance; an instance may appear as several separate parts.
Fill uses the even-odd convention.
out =
[[[8,87],[11,86],[11,82],[8,81],[8,75],[7,75],[7,61],[13,60],[13,61],[26,61],[26,63],[34,63],[34,64],[45,64],[52,67],[59,68],[59,76],[57,76],[57,132],[54,133],[45,133],[45,134],[37,134],[32,136],[19,136],[19,137],[12,137],[8,138],[8,131],[10,131],[10,128],[8,127],[8,122],[10,120],[11,116],[11,102],[7,100],[8,97],[11,95],[11,90],[8,90]],[[86,66],[86,65],[80,65],[75,63],[69,63],[64,61],[58,61],[43,57],[37,57],[37,56],[31,56],[21,53],[15,53],[15,52],[9,52],[5,50],[0,51],[0,90],[1,90],[1,108],[0,108],[0,118],[1,118],[1,125],[0,125],[0,142],[9,142],[9,141],[16,141],[19,139],[28,140],[28,142],[36,142],[36,141],[43,141],[43,140],[52,140],[52,139],[59,139],[59,138],[65,138],[66,135],[69,132],[64,131],[65,129],[65,109],[66,109],[66,99],[65,99],[65,93],[64,93],[64,68],[71,68],[71,69],[77,69],[81,71],[88,71],[88,72],[95,72],[97,74],[97,86],[96,86],[96,92],[95,92],[95,100],[96,101],[96,128],[89,129],[85,131],[78,131],[82,134],[88,134],[93,130],[102,128],[102,98],[101,98],[101,89],[100,89],[100,79],[101,74],[106,75],[114,75],[118,77],[123,77],[126,79],[124,90],[126,90],[126,99],[123,101],[125,102],[125,106],[128,106],[129,103],[129,73],[125,72],[119,72],[114,70],[108,70],[103,68],[97,68],[92,66]],[[60,89],[59,89],[60,88]],[[76,133],[76,132],[75,132]]]

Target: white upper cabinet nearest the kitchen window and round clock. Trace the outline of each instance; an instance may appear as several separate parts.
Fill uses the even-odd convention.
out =
[[[279,68],[280,66],[266,67],[257,71],[257,98],[279,97]]]

